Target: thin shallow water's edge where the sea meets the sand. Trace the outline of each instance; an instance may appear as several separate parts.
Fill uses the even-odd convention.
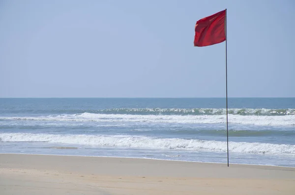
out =
[[[201,162],[201,161],[184,161],[184,160],[168,160],[168,159],[154,159],[154,158],[140,158],[140,157],[121,157],[121,156],[83,156],[83,155],[64,155],[64,154],[30,154],[30,153],[1,153],[1,154],[22,154],[22,155],[44,155],[44,156],[70,156],[70,157],[97,157],[97,158],[126,158],[126,159],[148,159],[156,161],[176,161],[176,162],[189,162],[189,163],[207,163],[207,164],[220,164],[227,165],[227,163],[215,163],[215,162]],[[257,164],[239,164],[239,163],[230,163],[229,165],[249,165],[249,166],[266,166],[266,167],[286,167],[286,168],[295,168],[287,166],[277,166],[277,165],[257,165]]]

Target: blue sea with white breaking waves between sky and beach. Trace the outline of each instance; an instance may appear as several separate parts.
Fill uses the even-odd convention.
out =
[[[229,162],[295,167],[295,98],[229,98]],[[0,98],[0,153],[227,163],[225,98]]]

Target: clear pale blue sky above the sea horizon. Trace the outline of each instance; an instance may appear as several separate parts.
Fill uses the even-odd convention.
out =
[[[0,97],[295,97],[293,0],[0,0]]]

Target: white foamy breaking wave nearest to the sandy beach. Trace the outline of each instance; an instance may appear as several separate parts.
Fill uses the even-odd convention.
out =
[[[123,148],[177,149],[196,151],[226,152],[225,141],[200,139],[159,139],[144,136],[90,136],[2,133],[1,141],[33,141],[64,144],[83,144],[92,146],[116,146]],[[259,142],[229,142],[229,150],[237,153],[273,154],[295,156],[295,145]]]

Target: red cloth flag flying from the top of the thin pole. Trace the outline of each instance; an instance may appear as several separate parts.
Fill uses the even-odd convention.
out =
[[[199,20],[195,26],[194,46],[203,47],[225,41],[226,10]]]

